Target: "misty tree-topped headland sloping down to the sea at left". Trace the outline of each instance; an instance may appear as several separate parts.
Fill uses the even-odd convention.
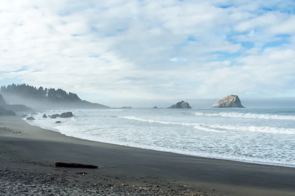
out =
[[[27,84],[11,84],[1,86],[0,93],[6,102],[24,104],[36,110],[88,108],[107,109],[109,106],[82,100],[75,93],[67,93],[62,89],[36,88]],[[8,101],[9,100],[9,101]]]

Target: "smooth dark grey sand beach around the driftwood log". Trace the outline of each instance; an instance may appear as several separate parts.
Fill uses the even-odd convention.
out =
[[[55,168],[59,161],[97,165],[98,169]],[[0,117],[0,183],[4,183],[1,175],[19,173],[101,187],[96,190],[120,189],[117,195],[134,189],[134,195],[295,196],[295,168],[92,142],[31,126],[18,117]],[[26,180],[20,176],[19,180]]]

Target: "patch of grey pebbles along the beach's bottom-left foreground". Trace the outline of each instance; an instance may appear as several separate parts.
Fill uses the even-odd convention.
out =
[[[59,174],[0,169],[0,196],[191,196],[172,190],[148,189],[115,184],[83,184]],[[54,178],[54,180],[52,180]],[[67,181],[67,183],[60,183]],[[207,196],[197,194],[194,196]]]

